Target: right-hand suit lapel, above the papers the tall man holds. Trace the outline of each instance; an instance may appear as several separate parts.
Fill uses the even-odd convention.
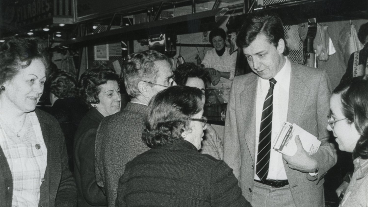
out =
[[[298,123],[302,115],[304,105],[307,103],[310,89],[307,87],[303,77],[303,70],[293,62],[291,63],[290,87],[289,87],[289,109],[288,122]]]

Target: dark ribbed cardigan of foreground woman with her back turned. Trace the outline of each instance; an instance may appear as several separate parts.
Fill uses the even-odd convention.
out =
[[[127,164],[116,207],[250,207],[232,171],[191,143],[175,140]]]

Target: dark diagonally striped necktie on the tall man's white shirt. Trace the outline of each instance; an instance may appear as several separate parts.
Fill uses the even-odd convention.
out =
[[[261,180],[266,180],[268,175],[269,157],[271,152],[271,132],[272,132],[272,103],[273,103],[273,87],[276,80],[269,79],[269,89],[266,99],[263,103],[260,138],[258,142],[258,155],[256,164],[256,174]]]

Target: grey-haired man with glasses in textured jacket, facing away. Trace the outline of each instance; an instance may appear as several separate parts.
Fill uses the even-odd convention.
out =
[[[120,112],[105,117],[95,143],[96,181],[104,188],[109,207],[115,206],[125,165],[149,149],[141,138],[148,103],[159,91],[176,85],[167,57],[156,51],[131,54],[123,65],[123,73],[131,102]]]

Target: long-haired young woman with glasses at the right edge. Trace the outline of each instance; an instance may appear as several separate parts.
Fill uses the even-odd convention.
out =
[[[333,131],[339,149],[354,158],[354,174],[340,207],[368,205],[368,81],[353,78],[335,88],[330,100],[327,129]]]

